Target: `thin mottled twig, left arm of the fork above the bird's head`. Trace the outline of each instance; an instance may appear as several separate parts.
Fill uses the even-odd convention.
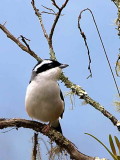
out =
[[[32,4],[32,7],[33,7],[33,9],[34,9],[34,11],[35,11],[35,14],[36,14],[37,17],[39,18],[39,22],[40,22],[40,25],[41,25],[41,27],[42,27],[44,36],[45,36],[45,38],[47,39],[47,41],[49,41],[48,34],[47,34],[47,32],[46,32],[46,30],[45,30],[45,27],[44,27],[44,24],[43,24],[42,15],[41,15],[41,13],[39,12],[39,9],[36,8],[36,6],[35,6],[35,1],[34,1],[34,0],[31,1],[31,4]]]

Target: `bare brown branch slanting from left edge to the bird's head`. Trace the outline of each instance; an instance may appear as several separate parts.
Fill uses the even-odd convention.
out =
[[[23,51],[29,53],[32,57],[34,57],[37,61],[41,61],[42,59],[35,54],[32,50],[29,50],[28,47],[24,46],[19,39],[17,39],[15,36],[13,36],[4,25],[0,24],[0,29],[6,34],[8,38],[10,38],[12,41],[14,41]]]

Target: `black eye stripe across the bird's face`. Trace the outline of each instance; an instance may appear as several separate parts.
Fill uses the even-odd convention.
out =
[[[37,65],[39,65],[39,64],[40,64],[40,63],[38,63]],[[37,67],[37,65],[36,65],[35,67]],[[61,63],[59,63],[59,62],[57,62],[57,61],[51,60],[51,63],[45,63],[45,64],[43,64],[42,66],[40,66],[40,67],[37,69],[36,73],[38,74],[38,73],[44,72],[44,71],[46,71],[46,70],[49,70],[49,69],[51,69],[51,68],[58,67],[58,66],[60,66],[60,65],[61,65]],[[35,67],[34,67],[34,68],[35,68]]]

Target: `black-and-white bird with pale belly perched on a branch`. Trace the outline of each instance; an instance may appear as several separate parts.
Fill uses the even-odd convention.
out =
[[[25,108],[32,119],[48,122],[44,132],[52,127],[62,134],[59,118],[63,117],[65,102],[58,80],[62,69],[67,66],[56,60],[44,59],[32,70],[26,90]]]

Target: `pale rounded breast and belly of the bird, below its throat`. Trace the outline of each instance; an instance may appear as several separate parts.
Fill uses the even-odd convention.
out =
[[[25,106],[28,115],[43,122],[52,122],[60,117],[64,103],[56,81],[32,81],[27,88]]]

